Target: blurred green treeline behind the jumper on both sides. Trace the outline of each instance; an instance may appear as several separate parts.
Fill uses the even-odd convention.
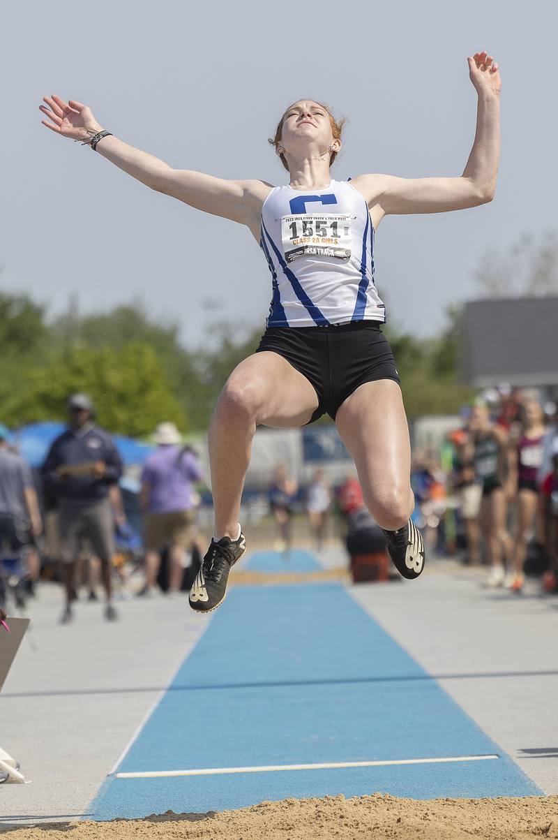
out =
[[[551,251],[548,244],[540,260],[547,270],[539,275],[552,273]],[[409,417],[456,412],[472,396],[458,380],[461,310],[447,314],[446,328],[434,339],[384,328]],[[148,434],[167,419],[205,432],[227,376],[254,352],[262,333],[257,328],[233,339],[225,323],[208,329],[221,339],[189,351],[178,322],[156,322],[138,302],[81,317],[75,304],[49,325],[44,307],[30,297],[0,293],[0,420],[21,425],[63,418],[68,394],[89,391],[100,422],[112,431]]]

